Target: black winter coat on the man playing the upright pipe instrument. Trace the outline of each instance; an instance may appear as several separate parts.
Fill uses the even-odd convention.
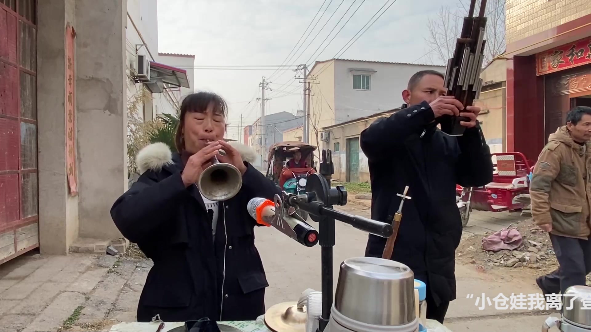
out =
[[[392,259],[426,282],[436,305],[456,298],[455,250],[462,236],[456,184],[492,181],[491,152],[480,126],[463,136],[437,129],[427,102],[401,109],[361,133],[372,188],[372,219],[391,222],[405,185],[408,196]],[[366,256],[381,257],[386,239],[369,235]],[[424,279],[424,280],[423,280]]]

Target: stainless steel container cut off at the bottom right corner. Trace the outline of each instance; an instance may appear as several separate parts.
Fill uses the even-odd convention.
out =
[[[569,323],[591,329],[591,287],[571,286],[564,292],[562,317]]]

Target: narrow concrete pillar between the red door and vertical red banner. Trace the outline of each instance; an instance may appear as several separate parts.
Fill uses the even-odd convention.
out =
[[[74,0],[37,4],[37,133],[39,240],[42,253],[65,255],[78,235],[78,197],[66,178],[66,24],[76,26]]]

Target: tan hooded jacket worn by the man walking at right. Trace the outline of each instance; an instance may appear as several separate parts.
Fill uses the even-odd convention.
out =
[[[589,165],[589,166],[587,166]],[[548,138],[530,183],[531,214],[536,224],[552,224],[554,235],[587,239],[591,144],[573,141],[566,126]]]

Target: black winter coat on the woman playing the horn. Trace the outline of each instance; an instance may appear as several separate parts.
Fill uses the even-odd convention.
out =
[[[162,148],[152,161],[147,158],[151,169],[111,209],[121,233],[154,261],[139,298],[138,321],[156,314],[164,321],[255,320],[265,313],[268,283],[246,204],[253,197],[272,199],[278,187],[245,162],[241,190],[219,204],[214,239],[199,190],[185,188],[181,180],[180,155],[154,162]]]

